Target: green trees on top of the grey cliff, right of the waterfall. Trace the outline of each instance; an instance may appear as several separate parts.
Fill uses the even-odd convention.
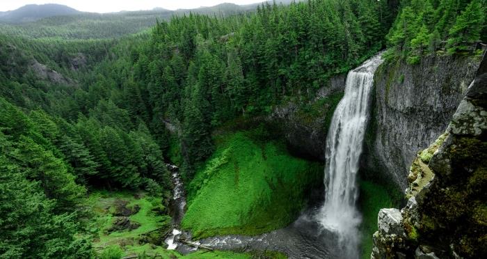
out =
[[[404,0],[388,47],[394,56],[416,64],[425,54],[446,49],[448,54],[472,54],[477,41],[486,42],[485,0]]]

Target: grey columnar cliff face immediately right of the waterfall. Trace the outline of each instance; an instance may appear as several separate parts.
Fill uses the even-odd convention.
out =
[[[479,58],[424,57],[420,64],[384,63],[375,81],[374,111],[362,168],[401,189],[416,152],[445,131],[479,65]]]

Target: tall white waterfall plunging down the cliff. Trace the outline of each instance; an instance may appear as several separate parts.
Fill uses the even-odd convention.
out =
[[[345,95],[333,113],[326,139],[325,203],[317,220],[324,228],[337,233],[346,258],[358,258],[361,216],[356,208],[356,174],[369,116],[374,72],[381,63],[381,54],[378,54],[349,72]]]

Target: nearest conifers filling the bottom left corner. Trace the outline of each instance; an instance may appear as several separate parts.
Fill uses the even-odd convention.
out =
[[[56,201],[6,157],[16,151],[1,132],[0,150],[0,257],[93,258],[90,241],[77,237],[74,214],[56,214]]]

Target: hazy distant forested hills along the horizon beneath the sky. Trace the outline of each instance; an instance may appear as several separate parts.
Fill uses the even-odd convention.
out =
[[[273,1],[268,1],[273,3]],[[292,1],[275,1],[286,5]],[[97,39],[120,38],[147,31],[159,21],[173,16],[193,14],[224,17],[253,12],[259,4],[239,6],[221,3],[195,9],[120,11],[118,13],[86,13],[61,5],[29,5],[0,13],[3,33],[23,38]],[[41,15],[40,15],[41,14]]]

